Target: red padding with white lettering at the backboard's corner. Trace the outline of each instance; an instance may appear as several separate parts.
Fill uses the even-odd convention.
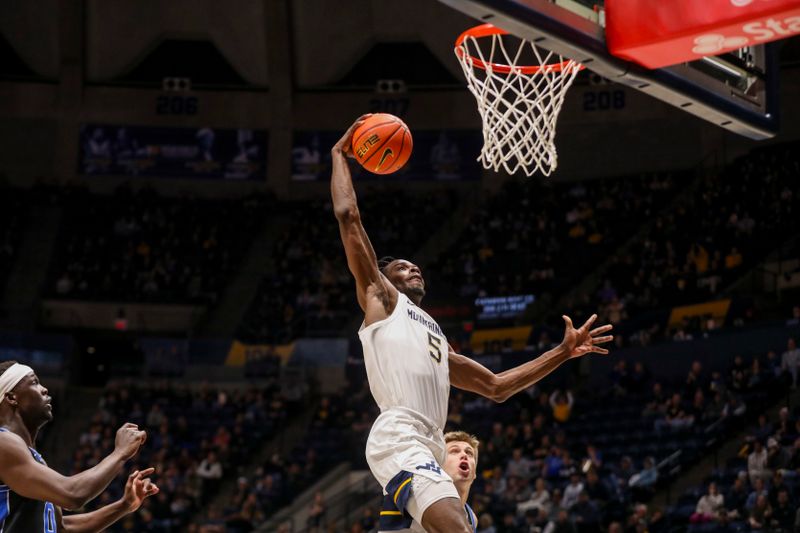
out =
[[[615,56],[661,68],[800,34],[800,0],[605,0]]]

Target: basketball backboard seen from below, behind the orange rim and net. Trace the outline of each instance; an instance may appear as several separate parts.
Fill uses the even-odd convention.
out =
[[[774,43],[649,69],[609,52],[603,0],[439,1],[740,135],[766,139],[778,131]]]

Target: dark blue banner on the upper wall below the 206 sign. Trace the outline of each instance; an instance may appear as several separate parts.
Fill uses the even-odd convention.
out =
[[[267,132],[84,124],[84,175],[263,180]]]

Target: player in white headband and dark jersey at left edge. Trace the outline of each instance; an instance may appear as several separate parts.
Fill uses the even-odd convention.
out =
[[[39,429],[52,419],[50,396],[33,369],[14,361],[0,363],[0,532],[103,531],[158,493],[147,479],[153,473],[148,468],[128,477],[120,500],[91,513],[63,516],[62,507],[78,509],[100,494],[139,451],[146,435],[125,424],[108,457],[65,477],[48,468],[33,448]]]

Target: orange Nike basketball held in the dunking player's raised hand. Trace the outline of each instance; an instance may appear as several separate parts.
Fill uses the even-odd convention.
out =
[[[414,142],[405,122],[376,113],[353,132],[353,155],[373,174],[391,174],[406,164]]]

